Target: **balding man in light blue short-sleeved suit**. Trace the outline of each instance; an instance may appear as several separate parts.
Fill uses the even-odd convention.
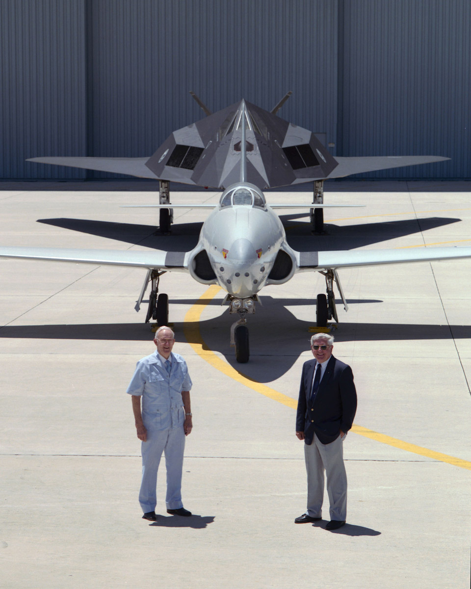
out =
[[[172,352],[175,336],[170,327],[160,327],[155,332],[154,343],[157,350],[139,360],[127,389],[132,396],[137,437],[142,442],[139,502],[144,512],[142,517],[150,521],[157,519],[157,471],[162,452],[167,467],[167,513],[191,515],[181,501],[181,474],[185,436],[193,428],[192,383],[185,360]]]

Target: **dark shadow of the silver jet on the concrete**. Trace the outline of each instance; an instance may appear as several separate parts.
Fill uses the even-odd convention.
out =
[[[178,301],[179,303],[181,301]],[[365,301],[363,301],[365,302]],[[289,302],[286,302],[289,304]],[[306,299],[301,303],[307,304]],[[299,304],[301,304],[299,303]],[[237,372],[255,382],[270,383],[283,376],[303,352],[309,352],[310,327],[313,321],[297,319],[279,299],[263,297],[260,312],[250,321],[250,361],[236,362],[229,342],[229,326],[233,317],[227,313],[195,323],[171,323],[178,342],[201,343],[204,350],[214,350],[225,356]],[[171,306],[170,306],[171,319]],[[314,327],[315,329],[315,327]],[[336,344],[349,341],[380,340],[447,340],[471,337],[471,326],[422,325],[412,323],[341,323],[334,332]],[[0,337],[22,339],[89,339],[148,341],[151,346],[150,326],[144,323],[93,323],[83,325],[7,325],[0,327]],[[151,347],[150,347],[151,351]]]

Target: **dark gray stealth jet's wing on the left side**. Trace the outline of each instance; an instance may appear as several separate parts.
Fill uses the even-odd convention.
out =
[[[127,174],[128,176],[156,180],[157,176],[145,165],[148,159],[148,157],[31,157],[26,161],[114,174]]]

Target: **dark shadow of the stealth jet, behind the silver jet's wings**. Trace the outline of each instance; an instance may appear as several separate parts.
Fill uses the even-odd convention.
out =
[[[427,217],[425,219],[360,223],[349,226],[337,226],[327,223],[326,234],[314,236],[311,234],[310,223],[296,221],[296,219],[305,219],[306,217],[307,213],[280,216],[282,223],[286,227],[287,241],[298,252],[349,250],[412,235],[419,231],[436,229],[436,227],[457,223],[461,220]],[[199,222],[174,223],[172,225],[172,234],[164,236],[152,225],[68,219],[67,217],[38,219],[37,222],[170,252],[187,252],[193,249],[198,243],[198,236],[203,226],[203,223]]]

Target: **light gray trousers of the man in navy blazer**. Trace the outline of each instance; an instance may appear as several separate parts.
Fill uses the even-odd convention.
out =
[[[345,436],[344,436],[345,439]],[[347,474],[343,464],[343,439],[321,444],[316,435],[313,443],[304,444],[307,472],[307,515],[322,517],[324,499],[324,470],[330,502],[330,519],[347,519]]]

